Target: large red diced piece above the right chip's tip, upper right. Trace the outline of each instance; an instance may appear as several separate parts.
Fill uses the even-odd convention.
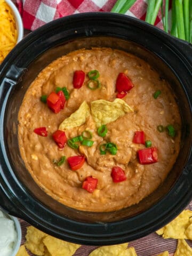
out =
[[[117,92],[128,92],[134,87],[130,78],[124,73],[119,73],[116,81]]]

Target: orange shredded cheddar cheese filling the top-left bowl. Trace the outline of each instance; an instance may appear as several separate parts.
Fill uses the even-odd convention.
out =
[[[17,43],[17,29],[9,5],[0,0],[0,64]]]

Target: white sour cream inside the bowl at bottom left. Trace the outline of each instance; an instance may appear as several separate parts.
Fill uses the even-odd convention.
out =
[[[17,240],[14,222],[0,211],[0,255],[11,256]]]

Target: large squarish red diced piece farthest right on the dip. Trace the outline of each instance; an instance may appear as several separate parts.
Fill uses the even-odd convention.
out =
[[[138,151],[140,164],[153,164],[158,162],[157,148],[144,148]]]

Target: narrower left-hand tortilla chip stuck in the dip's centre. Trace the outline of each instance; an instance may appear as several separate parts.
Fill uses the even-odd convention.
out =
[[[90,114],[89,105],[86,101],[83,101],[82,105],[60,124],[59,130],[65,131],[84,124],[86,118],[89,117]]]

